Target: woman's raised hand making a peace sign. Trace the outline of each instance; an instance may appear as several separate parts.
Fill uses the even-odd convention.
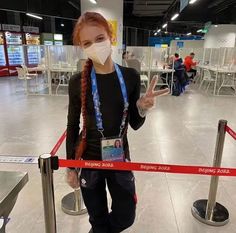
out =
[[[156,97],[166,95],[169,93],[168,88],[159,91],[154,91],[157,81],[158,81],[158,76],[155,76],[152,79],[146,94],[141,98],[139,98],[139,100],[137,101],[137,107],[140,110],[147,111],[148,109],[154,106]]]

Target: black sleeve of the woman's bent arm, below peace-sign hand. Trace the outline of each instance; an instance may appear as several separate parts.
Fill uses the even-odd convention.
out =
[[[129,99],[129,124],[134,129],[139,129],[144,121],[145,117],[141,117],[136,106],[136,102],[140,97],[141,80],[140,74],[136,70],[132,70],[131,78],[135,80],[133,92]]]

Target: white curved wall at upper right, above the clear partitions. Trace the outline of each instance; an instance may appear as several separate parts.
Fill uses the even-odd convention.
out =
[[[221,24],[218,27],[211,26],[205,35],[205,48],[234,47],[236,40],[236,25]]]

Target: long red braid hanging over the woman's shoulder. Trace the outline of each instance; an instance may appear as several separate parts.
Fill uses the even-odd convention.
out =
[[[86,140],[86,123],[87,123],[87,118],[86,118],[86,96],[87,96],[87,87],[88,87],[88,79],[90,78],[90,73],[92,69],[93,63],[92,60],[88,59],[86,61],[86,64],[84,65],[82,75],[81,75],[81,113],[82,113],[82,118],[83,118],[83,128],[82,128],[82,138],[81,141],[76,148],[76,153],[75,153],[75,158],[80,159],[84,151],[86,150],[87,147],[87,140]]]

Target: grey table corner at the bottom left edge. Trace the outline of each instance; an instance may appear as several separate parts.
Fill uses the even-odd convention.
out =
[[[16,203],[19,192],[27,182],[26,172],[0,171],[0,217],[4,218],[0,233],[5,233],[8,216]]]

